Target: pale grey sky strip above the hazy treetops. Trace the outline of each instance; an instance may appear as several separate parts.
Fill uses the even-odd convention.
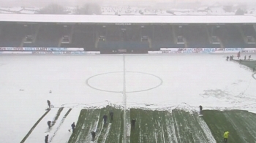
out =
[[[119,4],[140,4],[140,5],[154,5],[155,3],[168,2],[170,6],[173,4],[214,4],[219,2],[221,4],[246,4],[248,6],[255,6],[256,0],[0,0],[1,7],[44,7],[50,3],[62,4],[64,6],[79,6],[86,3],[99,3],[99,4],[108,4],[108,5],[119,5]]]

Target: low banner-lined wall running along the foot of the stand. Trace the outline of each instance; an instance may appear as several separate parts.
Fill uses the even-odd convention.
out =
[[[84,51],[83,47],[0,47],[0,54],[20,55],[86,55],[86,54],[222,54],[256,53],[255,48],[161,48],[158,51],[138,50],[99,50]]]

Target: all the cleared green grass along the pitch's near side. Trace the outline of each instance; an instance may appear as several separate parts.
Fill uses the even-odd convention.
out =
[[[57,115],[61,110],[59,109]],[[67,117],[70,111],[71,109],[64,117]],[[110,120],[110,111],[114,113],[113,120]],[[45,112],[45,115],[47,113]],[[105,125],[103,115],[108,115]],[[126,143],[222,143],[224,131],[230,131],[228,142],[256,141],[256,114],[247,111],[203,110],[203,117],[200,117],[197,112],[187,112],[183,109],[130,109],[127,111],[125,123],[123,115],[122,109],[109,106],[102,109],[82,109],[69,143],[91,142],[91,131],[96,132],[94,143],[123,143],[124,124],[127,126]],[[130,121],[133,118],[136,120],[135,128],[130,129]],[[33,128],[36,125],[37,123]]]

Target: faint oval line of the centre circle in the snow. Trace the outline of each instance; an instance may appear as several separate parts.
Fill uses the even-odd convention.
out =
[[[93,88],[94,90],[101,90],[101,91],[110,92],[110,93],[123,93],[123,90],[105,90],[105,89],[97,88],[97,87],[90,84],[90,81],[94,77],[100,77],[100,76],[106,75],[106,74],[121,74],[121,73],[124,73],[124,71],[113,71],[113,72],[106,72],[106,73],[102,73],[102,74],[96,74],[94,76],[89,77],[86,80],[86,85],[88,85],[90,88]],[[146,89],[143,89],[143,90],[131,90],[131,91],[128,90],[128,91],[126,91],[126,93],[138,93],[138,92],[143,92],[143,91],[147,91],[147,90],[152,90],[154,88],[158,88],[160,85],[162,85],[162,82],[163,82],[160,77],[158,77],[154,74],[148,74],[148,73],[145,73],[145,72],[138,72],[138,71],[125,71],[125,73],[143,74],[144,76],[148,75],[148,76],[154,77],[159,82],[157,85],[154,85],[151,88],[146,88]],[[127,75],[126,75],[126,77],[127,77]],[[123,79],[121,81],[123,82]],[[127,81],[127,78],[126,78],[126,81]],[[103,82],[109,82],[110,83],[111,81],[103,81]],[[121,85],[123,85],[123,83],[121,83]]]

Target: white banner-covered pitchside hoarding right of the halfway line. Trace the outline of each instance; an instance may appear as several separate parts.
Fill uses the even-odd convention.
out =
[[[256,53],[256,48],[161,48],[148,51],[148,54],[221,54],[221,53]]]

